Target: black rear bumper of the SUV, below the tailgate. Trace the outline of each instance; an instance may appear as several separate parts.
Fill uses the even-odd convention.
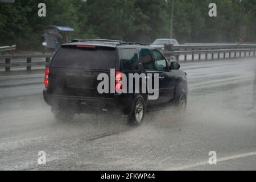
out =
[[[113,98],[60,96],[43,90],[44,101],[52,107],[73,110],[75,113],[129,115],[131,96]]]

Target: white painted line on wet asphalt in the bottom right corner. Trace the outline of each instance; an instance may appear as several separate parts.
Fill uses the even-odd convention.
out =
[[[249,153],[245,153],[245,154],[228,156],[226,158],[217,159],[217,163],[224,162],[224,161],[227,161],[227,160],[246,158],[248,156],[254,156],[254,155],[256,155],[256,152],[249,152]],[[185,165],[185,166],[176,167],[176,168],[167,168],[167,169],[165,169],[165,171],[182,171],[182,170],[185,170],[185,169],[201,167],[201,166],[205,166],[205,165],[210,165],[210,164],[208,163],[208,161],[207,162],[200,162],[200,163]]]

